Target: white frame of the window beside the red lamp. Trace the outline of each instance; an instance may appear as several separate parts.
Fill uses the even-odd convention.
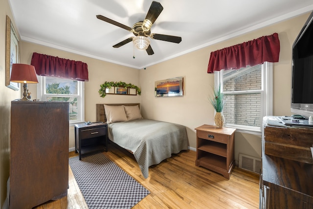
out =
[[[41,101],[46,101],[47,97],[77,97],[77,120],[69,121],[69,125],[74,125],[78,123],[85,122],[85,82],[77,81],[77,96],[68,95],[68,94],[46,94],[45,93],[45,78],[50,76],[37,76],[38,85],[37,85],[37,98]],[[52,77],[52,76],[51,76]],[[56,78],[56,77],[52,77]],[[61,80],[69,80],[60,78]],[[68,113],[69,114],[69,113]]]

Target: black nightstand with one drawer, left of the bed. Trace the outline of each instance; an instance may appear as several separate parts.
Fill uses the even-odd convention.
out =
[[[79,153],[79,160],[85,154],[108,151],[108,144],[107,124],[75,124],[75,152]]]

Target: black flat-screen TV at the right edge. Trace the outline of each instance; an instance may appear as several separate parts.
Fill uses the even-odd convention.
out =
[[[292,45],[291,112],[313,116],[313,12]]]

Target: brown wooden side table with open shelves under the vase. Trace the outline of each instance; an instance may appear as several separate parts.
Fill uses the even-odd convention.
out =
[[[197,130],[196,166],[206,167],[229,179],[235,166],[234,133],[236,128],[201,125]]]

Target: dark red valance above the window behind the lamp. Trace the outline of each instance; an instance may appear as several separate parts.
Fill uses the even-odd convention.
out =
[[[31,65],[37,75],[54,76],[77,81],[88,81],[87,63],[33,53]]]

